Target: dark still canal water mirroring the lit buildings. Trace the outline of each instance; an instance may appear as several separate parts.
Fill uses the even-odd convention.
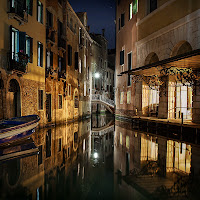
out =
[[[200,196],[199,145],[112,116],[40,129],[1,150],[9,156],[0,157],[0,200]]]

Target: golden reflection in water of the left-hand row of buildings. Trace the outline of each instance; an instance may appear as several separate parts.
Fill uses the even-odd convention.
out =
[[[84,156],[85,162],[89,159],[89,134],[90,121],[38,130],[33,135],[40,151],[38,155],[1,163],[0,198],[60,199],[68,196],[73,188],[74,177],[68,176],[72,164],[78,154]],[[80,167],[82,174],[83,166]]]

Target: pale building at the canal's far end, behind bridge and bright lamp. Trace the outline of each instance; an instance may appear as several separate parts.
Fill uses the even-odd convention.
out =
[[[105,30],[102,29],[102,34],[90,34],[93,39],[91,47],[91,95],[109,100],[114,91],[114,70],[108,67],[108,41],[104,36],[104,32]],[[92,104],[92,112],[105,112],[107,108],[101,103]]]

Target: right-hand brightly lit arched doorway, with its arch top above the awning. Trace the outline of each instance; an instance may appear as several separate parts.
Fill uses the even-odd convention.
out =
[[[171,57],[192,51],[187,41],[181,41],[172,50]],[[169,77],[168,117],[192,119],[192,87]]]

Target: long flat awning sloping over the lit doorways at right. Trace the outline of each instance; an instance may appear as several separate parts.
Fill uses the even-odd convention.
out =
[[[144,65],[132,70],[121,72],[118,76],[123,74],[143,74],[146,76],[159,74],[159,70],[163,67],[177,67],[177,68],[192,68],[193,70],[200,69],[200,49],[187,52],[178,56],[167,58],[152,64]]]

